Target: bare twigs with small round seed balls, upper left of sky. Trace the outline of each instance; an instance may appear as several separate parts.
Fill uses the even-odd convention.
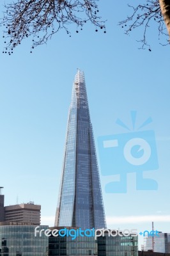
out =
[[[4,26],[4,52],[8,54],[29,36],[33,36],[31,49],[34,49],[46,44],[59,29],[65,29],[70,35],[70,24],[75,24],[79,33],[86,22],[91,22],[95,31],[100,28],[105,33],[105,21],[98,16],[96,0],[15,0],[6,4],[5,10],[1,25]]]

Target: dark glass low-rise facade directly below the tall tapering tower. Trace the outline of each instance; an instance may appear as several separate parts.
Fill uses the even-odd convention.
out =
[[[137,237],[49,237],[49,256],[137,256]]]

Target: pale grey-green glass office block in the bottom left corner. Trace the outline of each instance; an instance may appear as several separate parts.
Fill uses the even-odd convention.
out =
[[[33,225],[0,226],[0,256],[47,256],[49,237],[35,237]],[[40,226],[40,229],[48,226]]]

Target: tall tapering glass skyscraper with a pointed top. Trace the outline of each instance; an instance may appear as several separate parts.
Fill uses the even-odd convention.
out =
[[[68,113],[55,226],[105,228],[105,212],[84,74],[78,70]]]

